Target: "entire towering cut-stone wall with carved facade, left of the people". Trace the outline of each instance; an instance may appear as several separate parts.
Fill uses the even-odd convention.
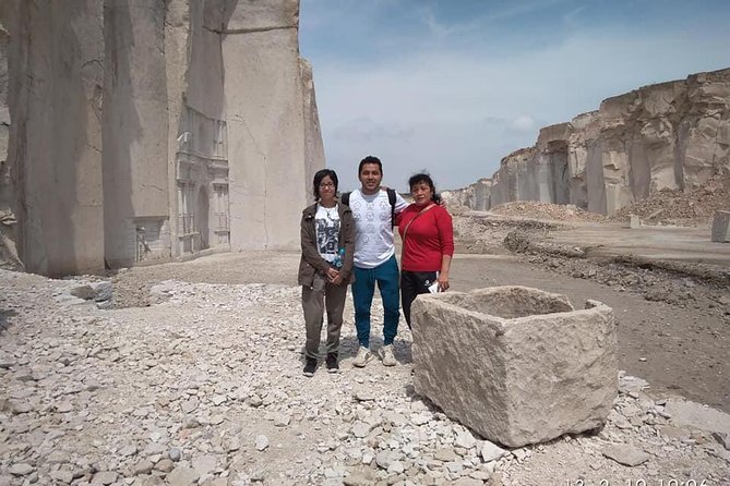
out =
[[[297,247],[324,167],[298,24],[299,0],[2,0],[0,267]]]

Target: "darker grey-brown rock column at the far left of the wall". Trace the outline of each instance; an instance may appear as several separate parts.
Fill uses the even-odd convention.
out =
[[[8,1],[2,10],[20,256],[28,271],[48,276],[98,271],[101,2]]]

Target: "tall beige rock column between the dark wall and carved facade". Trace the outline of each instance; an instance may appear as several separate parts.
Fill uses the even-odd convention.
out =
[[[170,256],[166,4],[106,0],[104,216],[107,264]]]

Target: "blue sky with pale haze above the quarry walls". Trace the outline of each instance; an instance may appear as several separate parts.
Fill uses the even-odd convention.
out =
[[[398,190],[462,187],[605,98],[730,68],[727,0],[301,0],[299,22],[342,190],[370,154]]]

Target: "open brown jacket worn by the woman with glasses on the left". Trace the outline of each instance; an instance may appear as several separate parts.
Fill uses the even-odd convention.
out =
[[[349,206],[337,203],[339,214],[338,246],[345,248],[345,258],[339,274],[343,283],[347,284],[354,280],[352,258],[355,254],[355,219]],[[299,262],[298,281],[300,285],[311,287],[314,274],[326,274],[331,268],[330,263],[322,258],[316,250],[316,230],[314,228],[314,216],[316,215],[316,203],[301,211],[301,259]]]

